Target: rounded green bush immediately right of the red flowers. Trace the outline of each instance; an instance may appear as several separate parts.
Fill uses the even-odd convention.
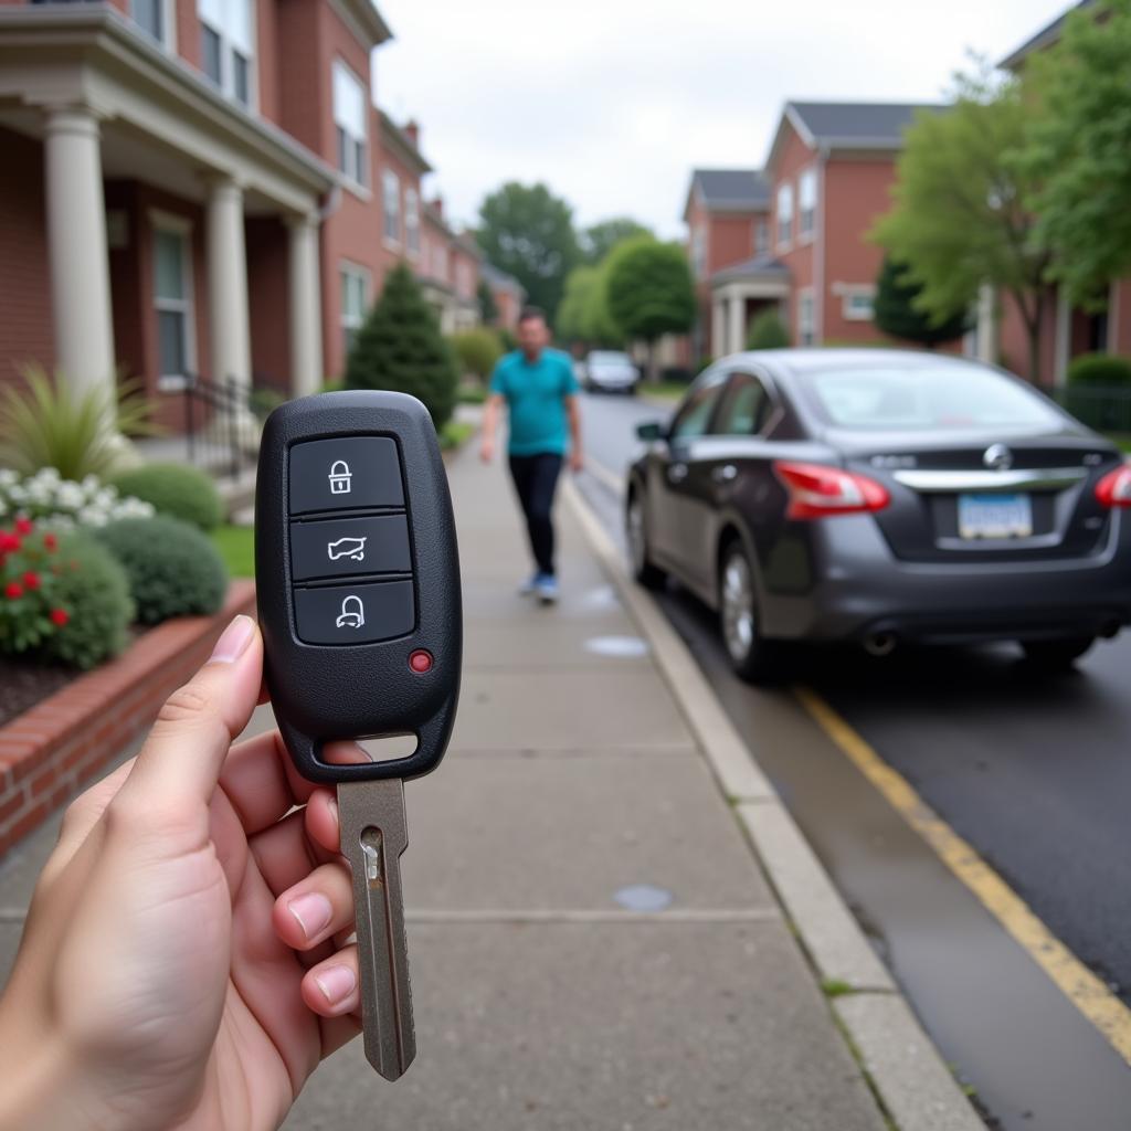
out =
[[[43,641],[40,655],[81,668],[116,656],[129,644],[135,612],[126,571],[89,533],[60,536],[54,564],[59,572],[52,578],[51,603],[66,615],[66,623],[55,622],[55,631]]]

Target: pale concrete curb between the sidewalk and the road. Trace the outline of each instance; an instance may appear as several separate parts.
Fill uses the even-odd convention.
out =
[[[817,977],[823,986],[838,987],[829,1002],[832,1016],[883,1111],[905,1131],[985,1131],[694,657],[653,598],[632,584],[612,538],[575,484],[566,480],[562,490],[586,541],[648,641]]]

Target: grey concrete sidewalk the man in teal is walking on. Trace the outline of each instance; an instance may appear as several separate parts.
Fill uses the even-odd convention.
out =
[[[794,933],[810,955],[834,952],[843,939],[817,927],[811,943],[805,924],[847,916],[786,849],[766,866],[787,921],[744,834],[756,822],[765,861],[796,837],[792,822],[779,806],[751,818],[736,788],[724,796],[718,780],[741,774],[745,752],[719,762],[720,724],[692,718],[671,655],[658,662],[666,627],[614,584],[576,508],[559,508],[561,604],[516,595],[527,552],[510,489],[470,448],[451,467],[460,713],[447,760],[406,789],[417,1059],[389,1085],[353,1043],[318,1070],[288,1131],[979,1125],[917,1028],[886,1042],[884,1008],[906,1007],[869,967],[863,981],[882,984],[856,1003],[879,1018],[863,1053],[881,1108],[843,1036],[852,995],[835,1015],[818,981],[830,967],[817,958],[815,973]],[[269,710],[252,725],[271,725]],[[41,830],[0,866],[0,981],[52,838]],[[900,1089],[910,1106],[890,1103]],[[923,1117],[900,1114],[916,1096],[931,1100]]]

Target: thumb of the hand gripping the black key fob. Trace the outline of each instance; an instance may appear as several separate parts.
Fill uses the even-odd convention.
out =
[[[208,663],[165,700],[119,797],[164,817],[207,805],[232,740],[256,709],[262,666],[256,622],[236,616]]]

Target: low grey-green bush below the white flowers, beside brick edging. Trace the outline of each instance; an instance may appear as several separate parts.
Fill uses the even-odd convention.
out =
[[[121,562],[143,624],[215,613],[227,592],[227,570],[209,539],[176,518],[127,518],[97,533]]]

